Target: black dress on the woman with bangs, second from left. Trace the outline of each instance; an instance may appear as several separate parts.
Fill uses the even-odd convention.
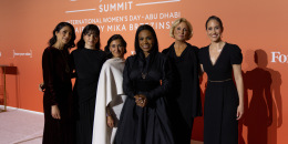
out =
[[[76,49],[72,53],[76,81],[75,96],[76,143],[91,144],[94,122],[95,97],[105,52],[101,50]]]

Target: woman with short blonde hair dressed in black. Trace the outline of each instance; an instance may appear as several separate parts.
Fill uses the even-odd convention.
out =
[[[195,116],[202,114],[198,80],[198,48],[186,42],[193,35],[191,23],[179,18],[171,27],[175,42],[163,51],[173,65],[173,91],[168,96],[168,113],[176,144],[189,144]]]

